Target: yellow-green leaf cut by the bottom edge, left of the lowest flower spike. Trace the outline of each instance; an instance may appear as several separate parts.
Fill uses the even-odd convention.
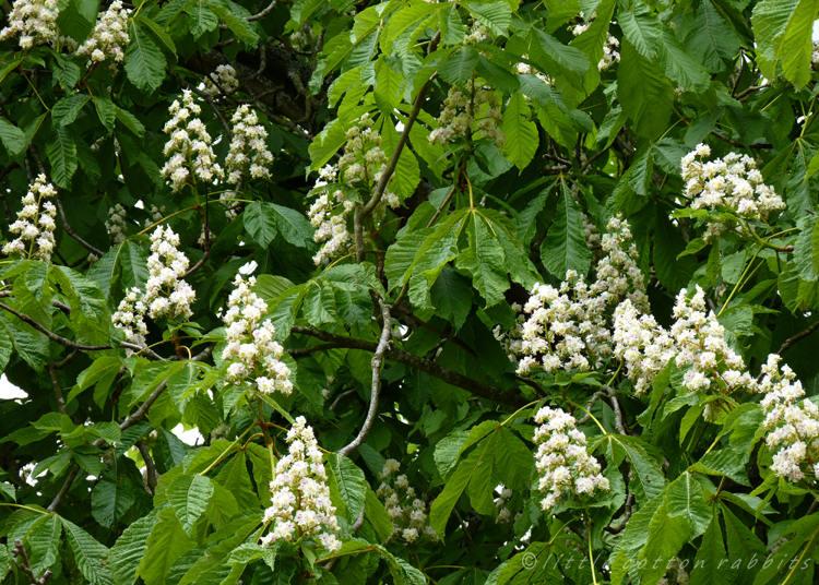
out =
[[[147,537],[145,553],[136,568],[136,574],[145,585],[164,585],[165,575],[174,562],[193,547],[195,541],[185,532],[174,509],[166,508],[157,515],[156,524]],[[130,558],[131,554],[123,551],[123,557]]]

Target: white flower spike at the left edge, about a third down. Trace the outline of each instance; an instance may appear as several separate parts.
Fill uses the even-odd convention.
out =
[[[17,212],[17,220],[9,226],[9,231],[15,234],[16,239],[3,246],[3,254],[23,254],[29,259],[51,261],[55,248],[54,230],[57,207],[50,201],[45,201],[57,194],[57,190],[48,182],[45,175],[39,175],[28,186],[28,192],[23,198],[23,208]]]

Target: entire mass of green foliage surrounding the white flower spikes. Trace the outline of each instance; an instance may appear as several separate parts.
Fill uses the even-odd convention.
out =
[[[82,43],[106,8],[60,2],[60,34]],[[589,26],[574,36],[581,11]],[[698,584],[812,583],[816,488],[769,469],[757,396],[707,421],[713,397],[686,392],[675,366],[640,398],[614,359],[521,379],[492,331],[512,327],[535,283],[593,278],[600,250],[585,230],[620,213],[657,322],[699,285],[752,373],[781,350],[816,399],[818,11],[815,0],[147,0],[130,13],[119,67],[85,62],[64,39],[3,41],[0,224],[8,236],[39,171],[60,215],[51,263],[0,265],[0,370],[27,395],[0,403],[0,582],[28,582],[26,568],[72,585],[653,585],[679,559]],[[467,43],[476,25],[487,36]],[[619,61],[601,71],[609,36]],[[159,174],[168,106],[222,64],[240,86],[200,99],[216,155],[249,103],[273,180],[173,194]],[[449,89],[478,79],[502,104],[502,147],[480,133],[430,143]],[[364,237],[316,267],[314,171],[365,114],[403,206],[381,216],[357,202],[348,229],[356,215]],[[707,222],[729,212],[688,208],[679,165],[700,142],[753,156],[787,202],[755,239],[704,241]],[[103,228],[115,204],[128,213],[117,243]],[[111,314],[144,288],[157,223],[197,266],[194,315],[149,320],[151,351],[134,353]],[[286,348],[290,396],[225,382],[219,311],[244,266]],[[612,489],[546,513],[531,416],[551,404],[580,418],[575,405],[598,392],[582,430]],[[328,451],[335,554],[309,539],[259,545],[296,416]],[[180,425],[200,442],[181,441]],[[360,446],[337,455],[363,427]],[[376,493],[389,458],[439,541],[393,535]],[[508,524],[496,523],[499,485],[513,490]]]

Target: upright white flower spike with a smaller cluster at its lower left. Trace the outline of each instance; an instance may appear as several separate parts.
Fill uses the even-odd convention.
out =
[[[147,258],[147,283],[142,301],[151,319],[168,317],[189,319],[190,306],[197,299],[193,288],[183,280],[190,261],[180,252],[179,236],[169,227],[158,226],[151,235],[151,252]]]

